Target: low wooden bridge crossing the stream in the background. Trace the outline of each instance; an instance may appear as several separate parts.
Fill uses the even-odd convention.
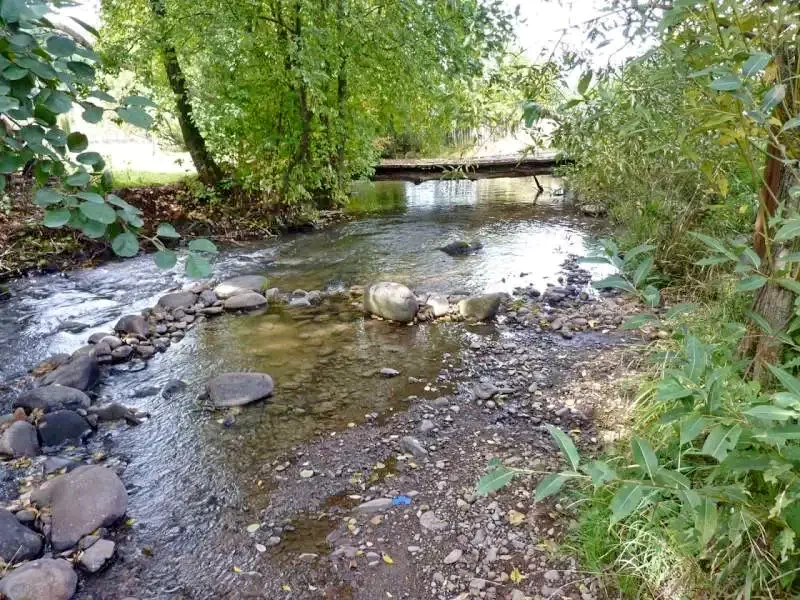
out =
[[[375,167],[375,181],[401,179],[420,183],[430,179],[493,179],[547,175],[572,162],[555,152],[547,154],[487,156],[480,158],[425,158],[383,160]]]

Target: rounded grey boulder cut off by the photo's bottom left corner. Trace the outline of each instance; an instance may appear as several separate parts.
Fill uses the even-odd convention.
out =
[[[78,576],[63,558],[40,558],[14,569],[0,580],[6,600],[69,600]]]

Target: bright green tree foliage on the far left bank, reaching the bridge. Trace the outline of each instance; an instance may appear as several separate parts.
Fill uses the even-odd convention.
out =
[[[426,145],[473,126],[476,90],[490,85],[512,24],[489,0],[104,0],[102,9],[106,71],[135,74],[160,109],[156,129],[174,137],[162,62],[174,48],[212,155],[289,216],[343,202],[382,141]]]

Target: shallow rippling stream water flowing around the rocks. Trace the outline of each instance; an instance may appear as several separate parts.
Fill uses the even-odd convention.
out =
[[[223,252],[216,276],[266,273],[282,290],[390,279],[418,291],[512,291],[554,281],[565,255],[585,254],[590,243],[586,222],[559,197],[537,195],[529,179],[364,184],[356,193],[361,208],[391,210]],[[456,239],[480,240],[483,250],[455,258],[437,250]],[[149,257],[12,283],[13,298],[0,313],[3,379],[50,353],[76,349],[91,332],[183,283],[182,267],[159,271]],[[59,331],[66,320],[88,327]],[[271,461],[316,435],[402,409],[409,395],[424,393],[424,383],[414,382],[434,380],[442,356],[457,352],[463,336],[456,324],[365,320],[342,299],[307,311],[226,315],[191,330],[146,370],[105,377],[98,389],[103,399],[137,405],[153,418],[137,428],[104,429],[92,441],[113,440],[111,454],[129,463],[124,478],[136,524],[122,545],[127,559],[89,580],[83,597],[116,597],[103,590],[117,586],[122,596],[141,598],[184,597],[165,592],[177,584],[193,590],[185,596],[192,598],[236,589],[230,565],[254,568],[241,532],[269,503],[264,482],[272,478]],[[383,378],[382,367],[402,375]],[[242,409],[228,428],[195,398],[211,376],[239,370],[272,374],[276,394]],[[137,390],[173,378],[189,382],[189,393],[137,397]],[[0,399],[12,397],[0,389]],[[154,558],[141,554],[145,546]]]

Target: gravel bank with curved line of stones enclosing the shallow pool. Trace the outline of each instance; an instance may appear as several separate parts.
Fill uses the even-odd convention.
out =
[[[122,464],[104,452],[81,461],[58,452],[82,442],[102,420],[138,426],[147,418],[119,403],[93,403],[86,392],[101,376],[113,376],[101,372],[104,365],[145,363],[224,312],[265,311],[270,302],[331,310],[347,302],[396,326],[463,321],[469,344],[458,357],[445,354],[435,378],[418,382],[423,393],[403,399],[407,410],[367,415],[361,427],[350,423],[261,468],[257,485],[271,490],[270,501],[243,527],[252,554],[230,565],[236,592],[225,597],[595,597],[599,581],[554,552],[568,510],[534,506],[530,481],[493,498],[474,491],[490,458],[557,468],[543,423],[577,434],[589,452],[608,439],[609,432],[597,430],[595,412],[619,407],[608,398],[597,405],[589,399],[597,396],[601,373],[600,390],[613,393],[613,381],[604,378],[610,364],[619,372],[620,357],[635,343],[617,330],[636,306],[613,294],[595,297],[587,288],[590,275],[574,259],[563,268],[559,285],[519,288],[515,296],[417,295],[391,282],[282,293],[266,290],[266,279],[256,275],[193,284],[161,296],[142,314],[121,317],[114,332],[93,333],[72,355],[50,357],[21,384],[36,387],[19,394],[14,413],[4,417],[0,453],[11,459],[6,481],[22,494],[0,512],[2,558],[17,566],[0,580],[0,591],[10,600],[67,600],[78,585],[73,566],[93,574],[116,556],[113,539],[124,536],[119,523],[127,511],[117,473],[124,476]],[[495,318],[487,329],[484,323]],[[414,379],[391,365],[380,376]],[[583,380],[594,394],[580,385],[575,390]],[[159,393],[185,388],[176,380]],[[221,422],[231,428],[239,407],[273,389],[266,373],[217,374],[198,400],[228,410]],[[41,453],[47,458],[36,458]],[[122,576],[129,597],[141,589],[136,563],[151,552],[143,548],[125,558],[130,564],[123,568],[134,577]],[[261,565],[262,557],[271,560]],[[179,574],[176,582],[171,594],[195,596]],[[119,590],[118,582],[114,593]],[[120,596],[98,591],[91,597]]]

